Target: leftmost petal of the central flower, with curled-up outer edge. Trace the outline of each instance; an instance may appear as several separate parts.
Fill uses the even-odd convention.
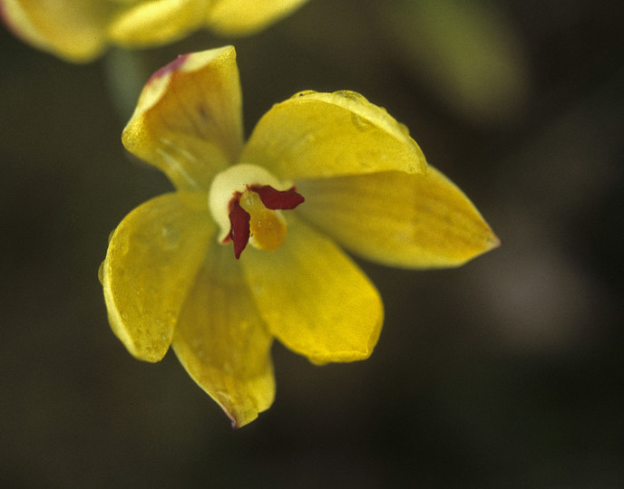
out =
[[[100,269],[112,331],[140,360],[158,361],[216,232],[205,194],[166,194],[115,229]]]

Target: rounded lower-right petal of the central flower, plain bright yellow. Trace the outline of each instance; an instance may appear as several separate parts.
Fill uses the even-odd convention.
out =
[[[366,359],[384,320],[379,293],[326,237],[288,216],[276,251],[248,246],[240,257],[268,329],[315,363]]]

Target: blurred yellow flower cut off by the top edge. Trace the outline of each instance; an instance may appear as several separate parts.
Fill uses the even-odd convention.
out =
[[[0,0],[0,18],[26,43],[71,62],[107,44],[136,48],[176,41],[201,27],[253,34],[307,0]]]

